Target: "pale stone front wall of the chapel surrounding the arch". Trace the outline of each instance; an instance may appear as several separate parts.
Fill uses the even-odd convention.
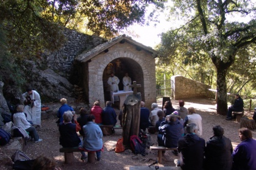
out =
[[[155,58],[146,51],[138,51],[135,46],[129,43],[117,43],[108,49],[108,52],[102,52],[99,55],[91,58],[88,63],[89,73],[89,102],[104,101],[104,89],[102,82],[102,74],[108,63],[116,58],[130,58],[141,66],[140,70],[133,70],[138,77],[144,77],[144,102],[146,107],[151,108],[152,102],[156,102],[156,82],[155,82]],[[121,83],[121,81],[120,81]],[[143,95],[143,94],[141,94]],[[104,102],[101,102],[101,107],[104,107]]]

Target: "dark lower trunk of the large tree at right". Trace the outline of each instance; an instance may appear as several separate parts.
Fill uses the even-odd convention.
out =
[[[217,68],[217,113],[227,115],[227,69]]]

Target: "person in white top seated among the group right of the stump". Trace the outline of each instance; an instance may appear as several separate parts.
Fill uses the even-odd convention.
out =
[[[202,117],[196,113],[194,107],[188,108],[188,115],[185,117],[184,127],[191,122],[195,123],[198,127],[197,135],[202,136]]]

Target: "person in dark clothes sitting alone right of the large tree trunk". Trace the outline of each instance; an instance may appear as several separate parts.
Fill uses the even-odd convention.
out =
[[[229,110],[227,110],[227,121],[232,120],[232,112],[243,112],[244,110],[244,101],[240,97],[239,94],[235,94],[235,102],[233,105],[229,107]]]

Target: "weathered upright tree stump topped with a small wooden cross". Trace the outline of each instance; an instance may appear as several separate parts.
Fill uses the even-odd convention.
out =
[[[124,101],[123,107],[123,144],[125,147],[130,147],[130,136],[137,135],[140,129],[140,105],[141,105],[141,94],[137,93],[136,82],[130,85],[133,88],[133,94],[127,96],[126,101]]]

